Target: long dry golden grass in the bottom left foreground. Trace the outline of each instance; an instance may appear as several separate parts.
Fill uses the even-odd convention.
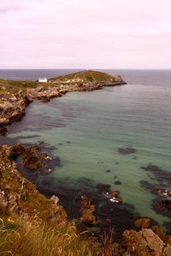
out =
[[[81,256],[100,255],[98,246],[78,235],[74,222],[56,227],[29,221],[1,221],[0,255],[9,256]]]

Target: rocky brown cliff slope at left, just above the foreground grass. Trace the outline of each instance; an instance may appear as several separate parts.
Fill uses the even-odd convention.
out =
[[[48,199],[40,194],[16,168],[11,152],[11,147],[0,146],[0,214],[15,213],[29,218],[37,216],[43,221],[65,221],[66,213],[58,199]]]

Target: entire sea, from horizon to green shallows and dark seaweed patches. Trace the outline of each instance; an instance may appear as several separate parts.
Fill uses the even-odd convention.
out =
[[[79,70],[0,70],[0,77],[37,80]],[[170,231],[158,202],[171,190],[171,70],[101,70],[126,85],[72,92],[49,103],[34,101],[26,116],[9,125],[0,143],[39,143],[52,158],[50,174],[21,168],[38,190],[61,200],[68,217],[80,218],[80,198],[96,205],[99,229],[121,234],[139,216]],[[19,162],[20,165],[20,162]],[[117,192],[116,204],[109,192]]]

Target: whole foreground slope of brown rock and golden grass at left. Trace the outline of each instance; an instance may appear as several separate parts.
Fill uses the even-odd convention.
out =
[[[13,161],[21,150],[0,145],[0,255],[115,255],[110,237],[80,233],[56,198],[45,198],[21,175]]]

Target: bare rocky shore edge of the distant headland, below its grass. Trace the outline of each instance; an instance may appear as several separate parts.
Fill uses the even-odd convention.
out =
[[[0,94],[0,134],[7,133],[5,125],[19,121],[26,114],[26,107],[34,100],[48,102],[51,98],[61,97],[68,92],[92,91],[102,89],[104,86],[116,86],[126,84],[121,76],[114,76],[115,80],[107,82],[78,82],[62,84],[48,82],[47,84],[35,82],[34,88],[27,87],[27,82],[22,82],[23,89],[9,90],[6,83],[0,82],[0,90],[5,94]],[[17,82],[16,82],[17,83]]]

